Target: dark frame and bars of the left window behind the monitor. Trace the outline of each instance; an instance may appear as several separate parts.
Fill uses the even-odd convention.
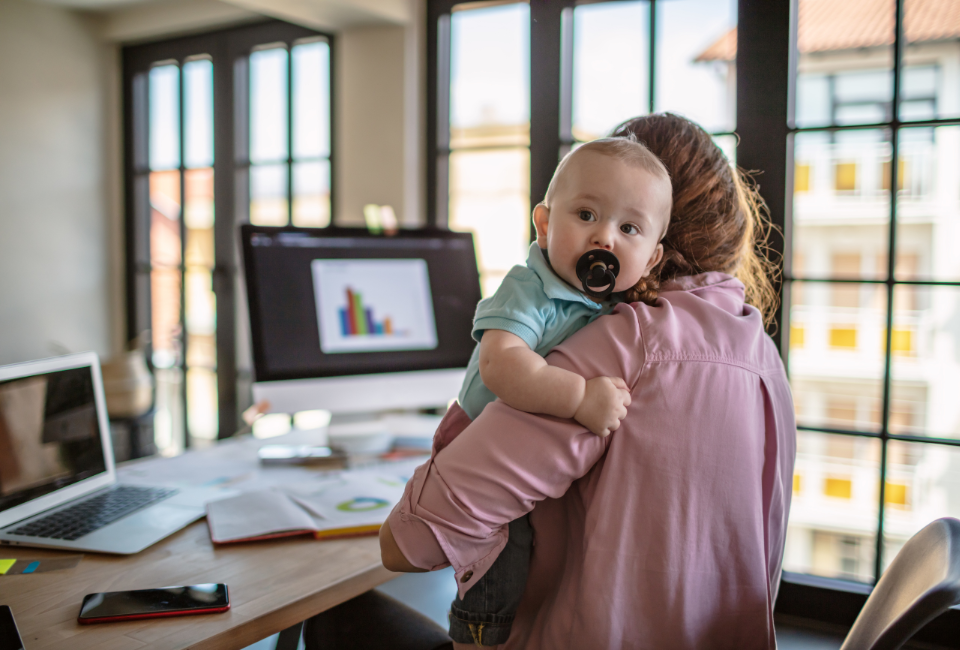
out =
[[[252,397],[252,371],[243,359],[249,357],[238,349],[243,343],[242,332],[247,326],[243,300],[241,270],[239,268],[239,226],[249,222],[250,192],[247,170],[250,167],[249,141],[249,56],[258,45],[285,43],[290,51],[295,41],[323,38],[330,47],[330,208],[336,214],[336,143],[333,138],[336,125],[336,44],[333,34],[293,25],[280,20],[258,21],[231,26],[202,34],[127,45],[122,48],[122,112],[123,112],[123,173],[124,173],[124,250],[125,298],[127,340],[140,332],[152,329],[150,286],[150,200],[149,190],[138,184],[138,178],[150,173],[148,153],[149,102],[145,78],[155,63],[175,61],[182,70],[185,62],[202,53],[213,62],[213,150],[214,150],[214,205],[218,218],[214,221],[213,292],[216,296],[216,351],[217,351],[217,439],[233,436],[241,427],[240,412],[249,406]],[[288,74],[288,119],[292,112],[292,65]],[[181,114],[183,75],[180,75]],[[288,145],[292,124],[288,125]],[[180,120],[181,156],[177,171],[186,171],[183,150],[184,121]],[[288,147],[289,148],[289,147]],[[292,173],[293,152],[288,150],[286,164]],[[181,183],[181,206],[184,187]],[[292,210],[293,184],[288,182],[288,215]],[[182,208],[181,208],[182,209]],[[181,260],[179,270],[186,272],[185,225],[180,219]],[[181,287],[185,284],[181,280]],[[180,323],[184,323],[185,291],[180,295]],[[238,336],[240,334],[240,336]],[[181,340],[182,353],[178,361],[186,368],[186,336]],[[238,355],[238,352],[241,354]],[[191,445],[187,422],[186,381],[182,382],[180,398],[184,449]]]

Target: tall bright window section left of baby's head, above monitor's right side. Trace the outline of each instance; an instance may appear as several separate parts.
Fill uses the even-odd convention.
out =
[[[490,295],[530,242],[530,8],[463,8],[449,30],[447,225],[474,233]]]

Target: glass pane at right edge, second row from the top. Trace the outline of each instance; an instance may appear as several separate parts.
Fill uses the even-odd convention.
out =
[[[960,280],[960,127],[901,130],[897,172],[897,279]]]

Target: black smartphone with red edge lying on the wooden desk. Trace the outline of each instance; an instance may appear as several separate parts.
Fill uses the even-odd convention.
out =
[[[228,609],[230,596],[225,584],[107,591],[83,597],[77,622],[108,623],[137,618],[216,614]]]

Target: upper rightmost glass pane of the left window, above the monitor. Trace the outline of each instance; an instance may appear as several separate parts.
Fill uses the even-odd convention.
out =
[[[330,45],[293,47],[293,156],[330,155]]]

